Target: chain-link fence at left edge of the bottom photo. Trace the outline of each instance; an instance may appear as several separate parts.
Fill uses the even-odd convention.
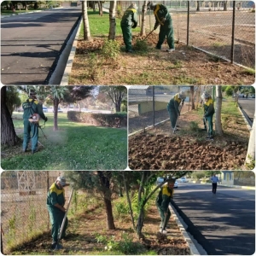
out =
[[[1,239],[7,253],[32,237],[50,229],[47,192],[60,172],[2,172]],[[70,189],[65,189],[66,199]],[[49,233],[50,237],[50,233]]]

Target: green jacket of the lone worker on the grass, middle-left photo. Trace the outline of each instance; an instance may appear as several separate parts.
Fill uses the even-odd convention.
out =
[[[33,113],[38,113],[41,119],[46,119],[43,112],[43,105],[38,100],[29,98],[26,102],[22,103],[22,108],[24,110],[23,119],[29,119]]]

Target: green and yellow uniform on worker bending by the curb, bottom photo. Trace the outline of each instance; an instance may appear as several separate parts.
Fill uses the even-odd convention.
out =
[[[171,202],[172,195],[174,193],[173,189],[169,189],[167,184],[164,184],[160,190],[160,195],[156,200],[156,207],[160,212],[160,228],[163,230],[166,229],[166,225],[171,217],[171,212],[169,209],[169,203]],[[166,213],[166,222],[165,222],[165,213]]]

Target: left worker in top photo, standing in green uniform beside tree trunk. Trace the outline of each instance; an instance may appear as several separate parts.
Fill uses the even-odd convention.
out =
[[[121,20],[121,28],[123,32],[123,38],[125,42],[125,52],[131,53],[131,27],[137,27],[137,4],[132,3],[128,9],[125,10],[125,14]]]

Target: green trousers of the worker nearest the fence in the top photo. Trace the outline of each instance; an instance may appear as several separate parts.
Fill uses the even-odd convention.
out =
[[[166,38],[169,49],[175,49],[172,21],[165,24],[164,26],[160,26],[159,38],[158,43],[156,44],[156,48],[161,49],[162,44],[164,43]]]

